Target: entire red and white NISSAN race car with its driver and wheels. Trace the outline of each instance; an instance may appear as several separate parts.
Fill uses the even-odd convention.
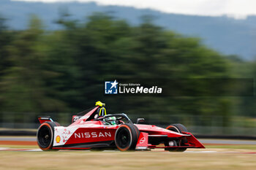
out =
[[[73,115],[72,123],[61,126],[48,116],[39,116],[37,144],[44,150],[151,150],[164,148],[183,152],[187,148],[205,148],[184,125],[167,128],[146,125],[143,118],[137,123],[126,114],[107,114],[105,104]]]

